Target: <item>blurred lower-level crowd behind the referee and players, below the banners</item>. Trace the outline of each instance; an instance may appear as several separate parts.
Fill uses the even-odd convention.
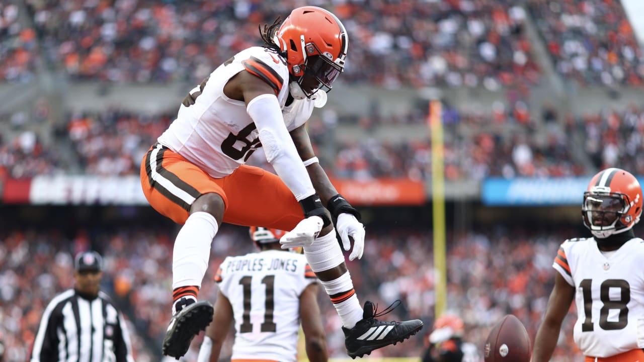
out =
[[[434,274],[427,255],[432,253],[429,229],[367,227],[365,256],[349,262],[362,301],[386,307],[403,301],[389,318],[433,321]],[[252,251],[246,229],[226,226],[214,242],[211,264],[202,285],[202,298],[214,300],[210,282],[223,258]],[[164,315],[171,301],[171,225],[118,230],[79,230],[71,236],[59,231],[19,229],[0,236],[0,325],[9,362],[24,361],[39,318],[52,296],[71,287],[72,255],[86,249],[104,254],[103,289],[129,319],[137,361],[155,361],[166,325]],[[578,236],[560,227],[543,233],[521,227],[498,226],[488,231],[450,234],[448,237],[448,309],[466,322],[466,340],[479,348],[491,326],[505,314],[515,314],[531,336],[542,318],[554,280],[551,265],[565,238]],[[430,258],[431,260],[431,258]],[[377,267],[376,267],[377,266]],[[384,266],[384,267],[383,267]],[[339,318],[325,296],[320,296],[330,355],[345,356]],[[572,316],[573,314],[571,314]],[[567,319],[558,356],[553,361],[573,361],[572,321]],[[424,330],[424,333],[430,329]],[[420,356],[424,338],[374,351],[373,356]],[[186,357],[194,357],[200,338]],[[232,340],[227,342],[230,346]]]

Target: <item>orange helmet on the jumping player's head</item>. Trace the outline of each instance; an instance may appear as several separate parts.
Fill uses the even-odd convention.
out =
[[[293,97],[298,98],[297,88],[309,98],[318,90],[330,91],[345,69],[349,46],[345,26],[323,8],[296,8],[279,26],[273,41],[286,54],[289,72],[297,79],[296,85],[290,84]]]

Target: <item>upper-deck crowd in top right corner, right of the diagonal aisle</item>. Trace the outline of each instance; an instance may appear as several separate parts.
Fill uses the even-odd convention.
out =
[[[644,54],[618,0],[529,0],[558,73],[583,85],[641,86]]]

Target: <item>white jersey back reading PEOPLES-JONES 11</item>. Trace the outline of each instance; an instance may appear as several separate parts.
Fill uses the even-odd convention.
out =
[[[227,257],[215,281],[232,305],[232,359],[294,362],[299,296],[317,281],[302,254],[271,250]]]

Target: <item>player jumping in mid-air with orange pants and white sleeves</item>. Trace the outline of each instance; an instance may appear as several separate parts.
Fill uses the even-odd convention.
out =
[[[422,322],[379,321],[372,303],[359,304],[331,216],[345,250],[354,239],[354,260],[365,243],[360,213],[319,166],[305,126],[345,67],[345,27],[327,10],[304,6],[260,33],[264,46],[237,53],[189,92],[141,164],[148,202],[183,225],[163,353],[183,356],[212,319],[212,305],[197,294],[222,222],[290,230],[280,242],[303,247],[342,321],[349,356],[403,341]],[[277,175],[244,165],[260,147]]]

